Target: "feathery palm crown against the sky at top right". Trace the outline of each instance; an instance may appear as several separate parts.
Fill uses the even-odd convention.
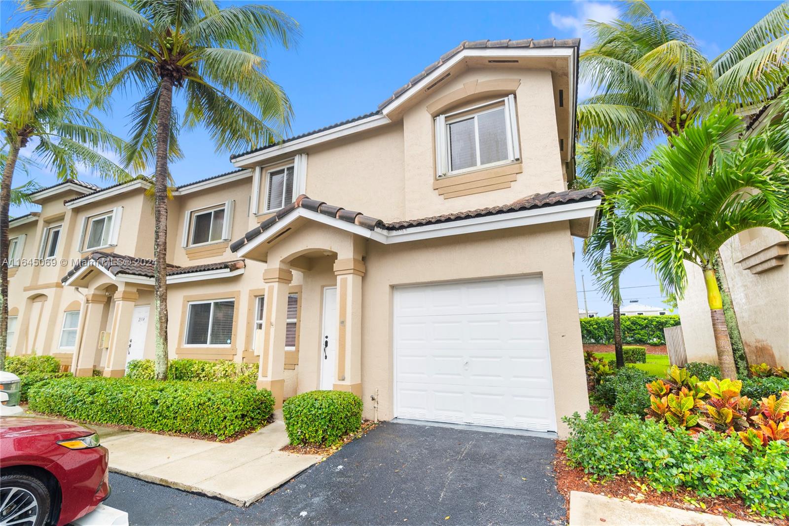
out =
[[[772,9],[737,42],[708,60],[681,25],[631,0],[619,20],[589,21],[594,42],[581,77],[597,95],[578,106],[583,134],[651,141],[682,133],[718,103],[764,105],[786,83],[789,4]]]

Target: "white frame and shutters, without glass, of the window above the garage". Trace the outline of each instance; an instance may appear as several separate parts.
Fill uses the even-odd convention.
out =
[[[451,151],[449,141],[449,126],[454,122],[460,122],[469,118],[476,121],[477,115],[482,115],[491,111],[498,111],[504,108],[504,127],[507,132],[507,159],[495,161],[495,163],[477,164],[476,166],[466,167],[459,170],[451,170]],[[466,174],[471,171],[484,170],[485,168],[501,166],[514,163],[521,159],[521,151],[518,135],[518,119],[515,116],[515,97],[506,96],[503,99],[489,100],[472,107],[465,107],[458,111],[439,115],[436,117],[436,178],[451,177],[452,175]],[[477,143],[477,160],[480,159],[480,137],[475,122],[475,139]]]

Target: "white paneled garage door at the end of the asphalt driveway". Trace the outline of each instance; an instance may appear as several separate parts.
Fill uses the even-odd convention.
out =
[[[398,287],[395,414],[556,430],[542,279]]]

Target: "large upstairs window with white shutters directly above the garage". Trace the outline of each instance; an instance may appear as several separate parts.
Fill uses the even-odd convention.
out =
[[[520,159],[514,96],[436,117],[436,175]]]

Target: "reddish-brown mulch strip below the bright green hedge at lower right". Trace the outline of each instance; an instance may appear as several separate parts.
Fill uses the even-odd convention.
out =
[[[741,498],[699,497],[693,491],[683,489],[676,490],[673,493],[657,493],[645,483],[641,483],[638,479],[630,476],[618,476],[604,483],[591,482],[589,480],[590,475],[584,473],[583,468],[571,468],[567,465],[567,456],[564,454],[566,447],[567,441],[556,441],[556,457],[553,467],[556,472],[556,486],[567,504],[568,522],[570,520],[570,491],[585,491],[607,497],[625,498],[633,502],[645,502],[652,505],[712,513],[713,515],[728,518],[736,517],[741,520],[779,524],[781,526],[789,524],[789,520],[771,519],[748,513],[748,508]]]

